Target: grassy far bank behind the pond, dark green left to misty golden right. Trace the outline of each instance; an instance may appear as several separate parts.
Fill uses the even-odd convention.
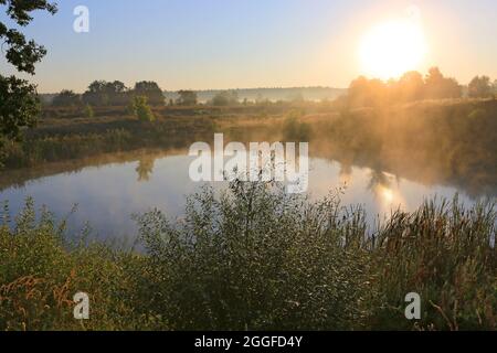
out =
[[[144,148],[188,149],[223,132],[242,142],[310,141],[313,157],[346,167],[455,185],[474,196],[496,195],[497,100],[491,98],[350,109],[309,101],[151,107],[154,121],[140,120],[129,110],[94,107],[86,117],[85,107],[45,108],[23,141],[6,143],[3,174]]]

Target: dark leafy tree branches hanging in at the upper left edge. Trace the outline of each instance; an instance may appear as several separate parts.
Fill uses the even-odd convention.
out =
[[[7,15],[21,28],[27,26],[35,10],[46,10],[54,14],[55,4],[46,0],[0,0],[0,6],[7,7]],[[27,40],[17,29],[9,29],[0,21],[0,42],[6,60],[18,72],[34,75],[34,65],[46,54],[43,46],[33,40]],[[40,100],[36,95],[36,86],[15,76],[4,77],[0,75],[0,143],[4,138],[17,139],[21,128],[34,125],[40,114]]]

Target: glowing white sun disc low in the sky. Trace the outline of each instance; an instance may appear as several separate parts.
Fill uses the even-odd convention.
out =
[[[360,44],[361,68],[366,75],[389,79],[419,69],[426,42],[419,21],[392,20],[372,28]]]

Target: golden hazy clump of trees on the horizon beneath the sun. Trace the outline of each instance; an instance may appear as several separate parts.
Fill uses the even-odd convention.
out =
[[[497,79],[491,84],[488,76],[474,77],[467,87],[455,78],[445,77],[438,67],[430,68],[423,77],[419,72],[405,73],[399,79],[383,82],[363,76],[352,81],[348,95],[336,100],[340,108],[376,107],[423,99],[489,98],[497,93]]]

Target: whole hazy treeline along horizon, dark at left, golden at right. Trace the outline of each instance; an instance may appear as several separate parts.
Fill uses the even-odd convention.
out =
[[[151,106],[233,106],[264,104],[274,100],[335,100],[336,106],[372,107],[423,99],[488,98],[497,94],[497,79],[491,83],[488,76],[475,76],[467,86],[455,78],[445,77],[438,67],[432,67],[423,76],[419,72],[408,72],[399,79],[388,82],[360,76],[353,79],[347,89],[308,88],[254,88],[231,90],[162,90],[156,82],[138,82],[133,88],[120,81],[95,81],[82,95],[64,89],[45,99],[45,104],[55,107],[77,106],[127,106],[135,97],[146,97]],[[47,98],[50,95],[45,95]],[[49,103],[50,101],[50,103]]]

